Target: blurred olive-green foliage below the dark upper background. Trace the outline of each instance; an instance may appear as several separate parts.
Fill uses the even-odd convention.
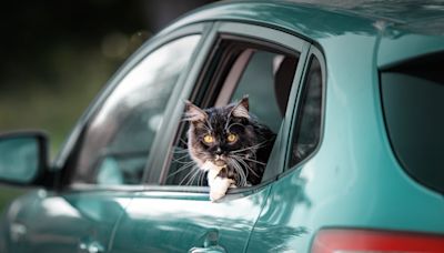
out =
[[[50,136],[51,158],[81,113],[115,71],[100,49],[56,48],[46,58],[49,73],[10,78],[0,92],[0,132],[38,129]],[[26,192],[0,186],[0,210]]]

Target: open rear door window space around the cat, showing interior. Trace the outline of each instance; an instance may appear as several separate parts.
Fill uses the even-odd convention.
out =
[[[221,108],[235,104],[248,95],[249,111],[254,120],[266,125],[274,134],[280,134],[300,52],[232,37],[222,37],[215,48],[213,58],[208,63],[206,72],[211,74],[202,77],[204,81],[201,89],[194,92],[191,102],[201,109]],[[171,149],[168,172],[162,179],[163,184],[208,185],[206,173],[190,156],[189,128],[188,122],[182,122],[179,128]],[[251,146],[243,146],[249,148]],[[235,152],[236,150],[232,153]],[[266,156],[270,153],[272,151]],[[245,170],[245,174],[254,173],[249,169],[255,164],[266,166],[266,160],[261,160],[258,154],[243,158],[238,155],[238,163]]]

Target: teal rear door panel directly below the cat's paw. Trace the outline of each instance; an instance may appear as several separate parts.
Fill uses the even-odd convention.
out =
[[[231,194],[220,203],[208,193],[140,192],[119,222],[111,252],[186,252],[210,240],[226,252],[243,252],[269,191]]]

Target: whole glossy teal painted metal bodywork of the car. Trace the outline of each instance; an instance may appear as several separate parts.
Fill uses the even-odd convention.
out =
[[[372,6],[365,7],[364,10],[371,10]],[[81,240],[98,241],[111,252],[184,251],[203,246],[210,232],[216,232],[218,245],[229,252],[309,252],[315,234],[326,227],[444,234],[443,195],[407,175],[392,151],[379,83],[380,69],[443,51],[443,34],[440,29],[417,29],[421,22],[413,22],[415,17],[405,13],[404,17],[394,16],[394,10],[385,14],[366,13],[356,8],[269,1],[213,4],[163,30],[114,77],[118,80],[142,52],[158,47],[167,40],[164,38],[173,38],[171,34],[188,27],[201,27],[198,30],[206,39],[183,80],[183,90],[178,90],[173,97],[180,101],[192,93],[220,23],[252,23],[302,38],[306,41],[304,50],[307,51],[311,43],[312,52],[322,59],[325,78],[321,144],[309,160],[263,185],[233,191],[221,203],[209,202],[206,189],[192,188],[32,192],[12,203],[7,213],[9,225],[3,226],[3,233],[20,232],[22,227],[14,224],[17,221],[34,223],[36,226],[27,230],[41,235],[46,235],[47,230],[56,231],[61,236],[58,240],[65,244],[60,247],[54,244],[52,249],[63,252],[69,252],[64,251],[68,245],[71,249],[83,245]],[[422,22],[427,13],[420,13]],[[433,20],[440,19],[434,17]],[[115,82],[110,82],[81,119],[56,168],[64,166],[94,107],[105,99]],[[297,89],[291,94],[289,104],[294,108],[287,110],[286,119],[292,119],[296,111],[296,98]],[[157,155],[149,162],[153,170],[147,175],[147,183],[159,183],[162,178],[159,171],[165,166],[181,114],[181,108],[174,103],[170,103],[167,111],[175,120],[164,124],[167,138],[155,140]],[[283,158],[293,124],[287,120],[282,130],[287,134],[279,140],[278,156],[271,160],[275,170],[285,169]],[[60,213],[51,214],[49,210]],[[51,215],[43,217],[42,212]],[[37,224],[36,219],[41,223]],[[56,239],[51,236],[53,234],[46,242]],[[17,247],[11,249],[20,252],[23,245],[27,244],[14,244]]]

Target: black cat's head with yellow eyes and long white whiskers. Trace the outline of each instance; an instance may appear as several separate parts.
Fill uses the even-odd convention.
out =
[[[248,97],[226,107],[210,109],[186,102],[184,120],[190,122],[189,153],[200,168],[208,161],[222,166],[254,156],[258,143]]]

